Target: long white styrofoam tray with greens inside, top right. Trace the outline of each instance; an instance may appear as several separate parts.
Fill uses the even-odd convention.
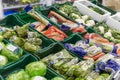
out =
[[[75,1],[73,6],[76,6],[78,8],[78,10],[82,13],[82,14],[85,14],[85,15],[89,15],[91,16],[91,18],[93,20],[96,20],[98,22],[102,22],[102,21],[105,21],[107,19],[107,17],[109,17],[111,15],[110,12],[100,8],[99,6],[87,1],[87,0],[78,0],[78,1]],[[97,7],[99,9],[101,9],[102,11],[105,12],[104,15],[101,15],[93,10],[91,10],[88,6],[93,6],[93,7]]]

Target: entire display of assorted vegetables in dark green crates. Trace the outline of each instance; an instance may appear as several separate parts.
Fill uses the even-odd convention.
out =
[[[88,7],[105,14],[100,8]],[[34,8],[25,13],[27,18],[19,13],[0,21],[0,80],[120,77],[119,30],[81,13],[73,5],[60,4],[56,8],[55,5]],[[27,20],[28,17],[31,19]],[[44,41],[51,43],[48,46]],[[30,55],[36,60],[29,58]]]

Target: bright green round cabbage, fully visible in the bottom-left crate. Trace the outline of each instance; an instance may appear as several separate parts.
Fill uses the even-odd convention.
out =
[[[33,76],[44,76],[47,71],[47,66],[41,62],[32,62],[28,64],[25,68],[25,70],[28,72],[28,74],[33,77]]]

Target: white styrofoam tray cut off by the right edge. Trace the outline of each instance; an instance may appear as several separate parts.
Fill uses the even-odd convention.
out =
[[[116,28],[116,29],[120,30],[120,13],[107,18],[106,23],[111,28]]]

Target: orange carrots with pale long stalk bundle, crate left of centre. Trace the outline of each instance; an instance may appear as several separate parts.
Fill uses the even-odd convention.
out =
[[[35,28],[37,31],[43,33],[48,38],[52,38],[54,40],[62,41],[67,38],[67,35],[59,30],[56,26],[51,25],[46,19],[44,19],[40,14],[36,11],[32,10],[28,12],[31,16],[37,19],[40,22],[33,22],[31,26]],[[47,29],[46,29],[47,28]]]

